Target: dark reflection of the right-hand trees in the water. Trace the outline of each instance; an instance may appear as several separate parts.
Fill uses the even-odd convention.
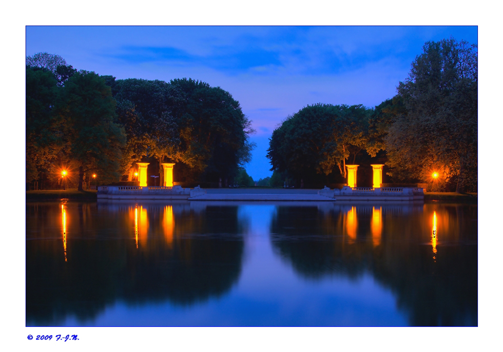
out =
[[[278,208],[273,248],[299,275],[356,277],[370,271],[397,295],[411,325],[477,324],[476,205],[380,205],[379,225],[375,206],[356,205],[356,240],[347,231],[352,206],[334,209],[323,215],[315,207]],[[434,210],[437,253],[431,242]]]

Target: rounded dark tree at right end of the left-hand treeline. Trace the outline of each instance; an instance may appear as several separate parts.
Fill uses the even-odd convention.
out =
[[[203,179],[232,178],[251,158],[255,131],[239,102],[220,87],[192,79],[174,79],[181,94],[173,115],[180,128],[182,161]]]

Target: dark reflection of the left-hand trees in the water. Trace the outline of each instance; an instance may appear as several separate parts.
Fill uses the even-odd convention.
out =
[[[59,204],[37,206],[61,219]],[[34,213],[33,207],[27,205],[28,214]],[[130,217],[134,205],[115,209],[100,205],[99,215],[86,223],[78,220],[82,207],[67,204],[67,262],[62,238],[54,238],[58,223],[49,220],[42,239],[33,236],[38,230],[27,216],[27,238],[37,237],[26,244],[27,322],[50,325],[69,315],[92,319],[118,299],[129,304],[169,300],[188,305],[227,292],[241,272],[244,243],[237,207],[200,213],[177,208],[172,206],[175,221],[168,242],[165,205],[143,206],[148,228],[137,249]]]

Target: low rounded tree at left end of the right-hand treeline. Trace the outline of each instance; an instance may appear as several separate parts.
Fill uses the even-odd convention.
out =
[[[337,167],[345,178],[346,160],[355,162],[366,146],[371,111],[361,105],[316,104],[288,116],[269,139],[271,171],[310,180]]]

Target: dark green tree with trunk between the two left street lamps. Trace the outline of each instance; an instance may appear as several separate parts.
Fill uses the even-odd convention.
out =
[[[79,190],[84,173],[95,170],[100,179],[117,179],[124,128],[115,119],[115,100],[105,80],[94,72],[75,73],[65,82],[58,113],[64,122],[67,155],[79,163]]]

